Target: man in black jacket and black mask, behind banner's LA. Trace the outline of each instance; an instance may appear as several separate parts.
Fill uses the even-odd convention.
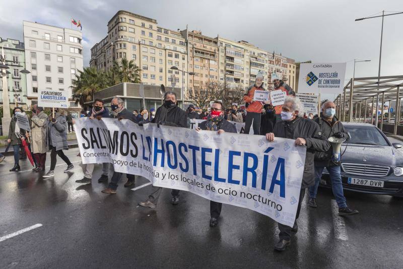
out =
[[[183,110],[177,104],[176,93],[173,91],[167,91],[164,95],[165,102],[158,107],[157,113],[152,123],[159,125],[173,126],[187,128],[187,117]],[[139,205],[144,207],[155,208],[157,206],[158,199],[160,198],[162,187],[152,186],[152,193],[148,196],[148,200],[140,202]],[[173,189],[171,191],[172,204],[179,203],[179,190]]]

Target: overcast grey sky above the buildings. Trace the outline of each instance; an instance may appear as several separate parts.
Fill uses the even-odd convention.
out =
[[[381,18],[355,22],[382,10],[403,11],[402,0],[356,1],[2,1],[0,36],[23,39],[22,21],[71,27],[80,20],[84,36],[84,66],[90,48],[106,36],[107,22],[118,10],[156,19],[169,29],[201,30],[232,40],[246,40],[296,61],[347,62],[352,77],[378,74]],[[403,75],[403,14],[385,17],[381,75]]]

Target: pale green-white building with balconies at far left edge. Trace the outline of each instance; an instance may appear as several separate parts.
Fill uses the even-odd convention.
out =
[[[7,75],[7,87],[9,92],[10,107],[16,104],[27,109],[27,82],[26,75],[20,73],[25,69],[25,52],[24,43],[11,38],[0,37],[0,57],[2,57],[2,49],[4,49],[4,57],[6,65],[9,66]],[[2,78],[2,72],[0,72]],[[0,79],[2,80],[2,79]],[[3,83],[0,83],[0,103],[3,104]]]

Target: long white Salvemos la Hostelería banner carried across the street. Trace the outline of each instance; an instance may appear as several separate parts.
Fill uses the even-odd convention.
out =
[[[110,162],[154,186],[249,208],[293,226],[305,163],[294,140],[195,131],[128,120],[76,120],[83,164]]]

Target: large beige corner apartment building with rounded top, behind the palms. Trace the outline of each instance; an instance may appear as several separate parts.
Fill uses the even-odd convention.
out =
[[[188,61],[179,29],[160,27],[155,19],[127,11],[118,11],[107,26],[108,35],[91,48],[90,66],[107,70],[125,58],[140,67],[144,84],[170,87],[174,75],[176,87],[187,87],[187,74],[179,71],[187,71]]]

